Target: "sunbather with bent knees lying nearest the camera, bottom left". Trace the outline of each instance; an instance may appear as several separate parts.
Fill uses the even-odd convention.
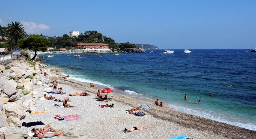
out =
[[[47,133],[47,131],[52,131],[54,133]],[[31,130],[31,132],[34,133],[33,137],[37,137],[39,139],[43,139],[43,138],[51,138],[54,136],[59,136],[59,135],[63,135],[65,133],[65,131],[61,131],[58,132],[56,131],[52,126],[50,126],[49,124],[46,125],[43,129],[42,128],[33,128]]]

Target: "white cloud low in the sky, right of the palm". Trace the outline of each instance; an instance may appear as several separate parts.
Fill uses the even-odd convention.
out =
[[[25,32],[27,32],[28,34],[32,34],[32,33],[41,33],[41,31],[43,30],[47,30],[50,27],[48,25],[44,25],[44,24],[37,24],[34,22],[21,22],[25,28]]]

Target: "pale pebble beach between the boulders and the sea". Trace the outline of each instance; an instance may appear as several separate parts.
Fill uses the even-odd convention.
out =
[[[45,125],[50,124],[58,131],[65,131],[59,139],[169,139],[175,136],[187,135],[194,139],[253,139],[256,132],[243,129],[237,126],[231,126],[214,120],[205,119],[199,116],[179,112],[172,108],[162,108],[155,106],[152,101],[141,101],[125,95],[111,93],[112,101],[96,101],[95,96],[98,89],[89,87],[88,83],[77,82],[69,79],[59,78],[61,73],[53,72],[47,66],[40,66],[40,69],[47,69],[48,76],[41,76],[39,80],[53,81],[57,79],[58,88],[63,88],[66,94],[55,95],[47,94],[46,91],[52,91],[53,87],[47,84],[34,84],[32,89],[32,99],[34,105],[24,110],[44,111],[46,114],[26,114],[22,122],[42,121]],[[40,81],[42,82],[42,81]],[[89,96],[69,96],[75,92],[88,92]],[[42,99],[43,95],[52,95],[57,99],[70,98],[68,102],[71,106],[61,108],[62,102]],[[109,97],[108,96],[108,97]],[[8,103],[8,102],[7,102]],[[100,107],[105,104],[114,103],[114,108]],[[132,107],[138,107],[141,104],[147,104],[151,108],[144,110],[145,116],[135,116],[126,113],[126,110]],[[79,120],[56,120],[54,115],[67,116],[71,114],[81,115]],[[1,127],[0,131],[5,133],[6,139],[24,139],[31,138],[27,135],[32,128],[40,126],[13,126],[7,125]],[[147,129],[124,133],[122,130],[126,127],[146,126]]]

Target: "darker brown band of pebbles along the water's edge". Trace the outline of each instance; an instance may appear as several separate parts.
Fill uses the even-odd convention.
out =
[[[67,79],[63,79],[61,82],[65,84],[70,83],[73,86],[75,85],[76,87],[81,86],[81,88],[85,90],[86,88],[89,87],[84,82],[79,82],[74,80],[70,81]],[[92,87],[89,87],[89,88],[92,88]],[[116,99],[116,96],[117,96],[117,99]],[[130,96],[115,94],[115,98],[113,98],[113,100],[119,101],[123,105],[128,105],[132,107],[137,107],[142,103],[147,104],[151,107],[151,109],[147,111],[147,113],[157,119],[174,122],[175,124],[178,124],[180,126],[187,127],[187,128],[195,128],[199,131],[207,131],[220,136],[224,136],[225,138],[233,138],[233,136],[236,135],[236,137],[234,138],[248,139],[256,136],[256,131],[253,131],[253,130],[245,129],[239,126],[229,125],[223,122],[207,119],[207,118],[192,115],[192,114],[187,114],[173,108],[166,109],[166,108],[158,107],[158,106],[155,106],[153,103],[149,103],[149,101],[142,101]]]

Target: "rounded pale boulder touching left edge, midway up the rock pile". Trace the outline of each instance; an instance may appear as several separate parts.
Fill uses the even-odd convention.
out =
[[[17,87],[17,82],[15,82],[14,80],[10,80],[4,83],[1,89],[6,95],[12,96],[16,93],[16,87]]]

